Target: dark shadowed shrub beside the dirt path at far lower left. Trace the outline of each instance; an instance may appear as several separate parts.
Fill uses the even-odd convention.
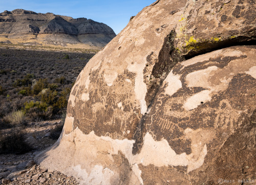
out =
[[[0,133],[0,154],[23,154],[33,148],[25,141],[25,134],[16,128]]]

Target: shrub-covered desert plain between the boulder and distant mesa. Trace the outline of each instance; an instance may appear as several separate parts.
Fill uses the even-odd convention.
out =
[[[0,49],[0,154],[31,150],[22,128],[66,113],[76,77],[92,56]],[[53,130],[51,137],[57,139],[61,129]]]

